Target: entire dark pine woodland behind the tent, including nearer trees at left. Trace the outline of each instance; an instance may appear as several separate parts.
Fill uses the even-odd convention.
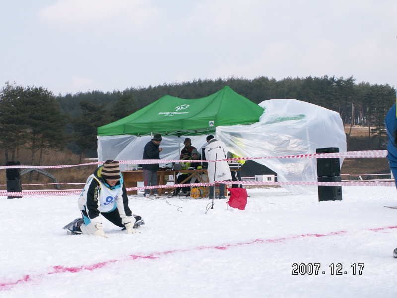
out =
[[[66,146],[80,152],[96,151],[99,126],[124,118],[169,94],[180,98],[201,98],[224,86],[255,103],[268,99],[294,98],[338,112],[345,125],[369,128],[369,136],[385,135],[384,119],[396,102],[396,89],[389,84],[355,83],[353,77],[287,77],[281,80],[265,76],[255,79],[198,79],[158,86],[131,87],[113,92],[89,91],[54,96],[44,87],[10,84],[0,91],[0,148],[5,159],[18,160],[20,148],[41,156],[48,149]],[[371,129],[373,128],[374,129]],[[380,139],[381,139],[380,138]],[[80,158],[81,161],[81,158]]]

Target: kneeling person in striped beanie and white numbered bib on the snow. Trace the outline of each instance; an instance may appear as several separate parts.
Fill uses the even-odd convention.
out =
[[[106,160],[87,179],[78,199],[82,218],[66,224],[68,234],[91,234],[107,238],[102,227],[104,217],[111,223],[127,229],[127,233],[138,232],[136,227],[144,224],[140,216],[132,215],[128,196],[117,160]]]

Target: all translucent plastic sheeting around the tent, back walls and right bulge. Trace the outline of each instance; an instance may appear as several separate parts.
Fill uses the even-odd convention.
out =
[[[317,148],[337,147],[346,151],[346,135],[338,113],[296,99],[271,99],[260,103],[265,111],[252,125],[218,126],[216,138],[240,157],[267,157],[316,153]],[[185,138],[201,153],[206,136],[163,136],[162,159],[179,159]],[[98,136],[98,160],[142,159],[150,136]],[[317,181],[315,158],[256,159],[277,173],[278,181]],[[342,160],[340,164],[342,163]],[[163,164],[164,165],[164,164]],[[125,169],[125,165],[120,165]],[[317,193],[316,186],[285,186],[294,193]]]

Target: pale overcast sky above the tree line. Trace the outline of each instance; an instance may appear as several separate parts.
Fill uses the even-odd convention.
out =
[[[0,86],[351,75],[396,86],[396,0],[1,0]]]

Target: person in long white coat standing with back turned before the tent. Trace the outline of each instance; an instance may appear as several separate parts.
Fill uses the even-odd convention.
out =
[[[205,146],[205,158],[207,160],[219,160],[208,162],[208,179],[209,182],[226,181],[232,179],[229,165],[226,159],[227,149],[225,143],[216,140],[214,136],[207,137],[207,146]],[[214,186],[209,187],[209,198],[214,196]],[[225,184],[219,184],[219,199],[226,199],[225,197]]]

